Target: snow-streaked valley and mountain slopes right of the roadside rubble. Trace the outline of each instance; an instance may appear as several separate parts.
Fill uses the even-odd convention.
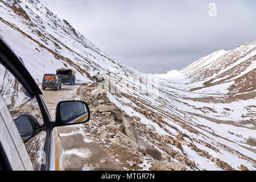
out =
[[[255,42],[242,44],[233,51],[214,52],[181,71],[153,77],[121,76],[117,79],[121,94],[109,98],[127,114],[153,124],[163,135],[189,135],[198,148],[182,146],[201,169],[228,168],[205,166],[209,158],[200,158],[199,148],[233,168],[240,169],[242,164],[255,170]],[[142,81],[134,84],[133,79]],[[217,81],[205,86],[208,80]],[[133,85],[133,89],[127,89],[127,84]],[[147,86],[151,88],[141,89]]]

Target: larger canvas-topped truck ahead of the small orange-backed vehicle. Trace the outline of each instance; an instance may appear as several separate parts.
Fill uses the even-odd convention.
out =
[[[57,69],[56,75],[60,77],[62,84],[74,85],[76,82],[75,71],[73,69]]]

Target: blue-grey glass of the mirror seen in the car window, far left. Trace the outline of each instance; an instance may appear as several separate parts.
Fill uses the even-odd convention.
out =
[[[34,130],[26,115],[21,115],[20,117],[16,118],[14,123],[19,131],[20,137],[22,137],[23,142],[32,137]]]

